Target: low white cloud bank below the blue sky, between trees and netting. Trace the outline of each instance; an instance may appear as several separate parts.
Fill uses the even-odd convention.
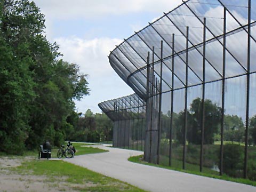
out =
[[[108,62],[109,51],[121,43],[121,39],[68,37],[54,41],[60,45],[63,60],[77,63],[82,73],[89,74],[91,92],[82,101],[76,102],[78,111],[85,113],[90,108],[97,113],[100,111],[98,103],[133,93]]]

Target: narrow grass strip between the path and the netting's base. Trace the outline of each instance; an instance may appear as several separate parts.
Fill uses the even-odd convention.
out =
[[[222,180],[227,180],[227,181],[232,181],[232,182],[238,182],[238,183],[243,183],[246,185],[252,185],[252,186],[256,186],[256,181],[251,181],[249,179],[242,179],[242,178],[231,178],[227,175],[216,175],[216,174],[211,174],[211,173],[203,173],[203,172],[199,172],[199,171],[190,171],[190,170],[182,170],[182,169],[178,169],[176,167],[170,167],[170,166],[164,166],[164,165],[156,165],[153,163],[148,163],[142,160],[143,155],[139,155],[139,156],[133,156],[130,157],[128,160],[134,163],[140,163],[140,164],[144,164],[144,165],[150,165],[150,166],[156,166],[156,167],[161,167],[164,169],[170,169],[170,170],[174,170],[174,171],[181,171],[181,172],[185,172],[185,173],[190,173],[190,174],[196,174],[196,175],[201,175],[204,177],[210,177],[210,178],[215,178],[215,179],[222,179]],[[197,166],[198,167],[198,166]]]

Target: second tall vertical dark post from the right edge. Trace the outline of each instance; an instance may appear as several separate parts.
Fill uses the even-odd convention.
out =
[[[225,118],[225,83],[226,83],[226,33],[227,33],[227,9],[224,7],[223,17],[223,67],[222,67],[222,106],[221,106],[221,130],[220,130],[220,175],[223,174],[223,132]]]

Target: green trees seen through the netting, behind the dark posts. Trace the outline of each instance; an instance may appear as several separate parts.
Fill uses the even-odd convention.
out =
[[[206,99],[205,120],[204,120],[204,144],[213,144],[214,141],[220,141],[221,129],[221,107],[216,103]],[[162,121],[170,121],[171,112],[162,115]],[[188,143],[201,145],[201,127],[202,127],[202,99],[196,98],[187,111],[187,141]],[[183,132],[185,122],[185,111],[173,113],[173,139],[175,142],[183,143]],[[162,127],[164,133],[169,132],[168,126]],[[166,138],[169,135],[166,134]],[[245,125],[243,119],[237,115],[224,115],[223,140],[231,142],[245,142]],[[256,145],[256,115],[249,119],[249,145]]]

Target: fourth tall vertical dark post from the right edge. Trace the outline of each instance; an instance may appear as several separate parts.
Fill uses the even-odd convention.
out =
[[[183,163],[182,169],[186,169],[186,141],[187,141],[187,126],[188,126],[188,38],[189,38],[189,27],[187,27],[186,36],[186,86],[185,86],[185,123],[184,123],[184,137],[183,137]]]

